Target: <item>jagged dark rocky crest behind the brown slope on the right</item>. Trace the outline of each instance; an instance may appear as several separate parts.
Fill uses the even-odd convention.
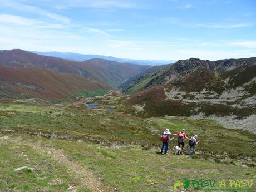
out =
[[[130,82],[130,86],[127,87],[124,83],[120,85],[126,93],[134,93],[137,91],[145,90],[151,86],[163,85],[163,83],[171,82],[180,78],[182,76],[188,75],[196,68],[203,67],[208,71],[212,72],[224,72],[230,71],[235,68],[251,66],[256,64],[256,57],[251,58],[240,58],[240,59],[226,59],[226,60],[217,60],[217,61],[209,61],[209,60],[200,60],[198,58],[190,58],[189,60],[179,60],[166,70],[158,70],[155,73],[150,74],[150,76],[146,75],[144,72],[144,76],[141,77],[132,77]],[[143,80],[143,81],[141,81]],[[141,86],[144,84],[143,86]],[[137,87],[140,87],[137,89]]]

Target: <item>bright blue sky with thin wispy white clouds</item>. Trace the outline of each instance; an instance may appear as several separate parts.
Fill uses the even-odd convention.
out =
[[[256,0],[0,0],[0,50],[203,60],[256,56]]]

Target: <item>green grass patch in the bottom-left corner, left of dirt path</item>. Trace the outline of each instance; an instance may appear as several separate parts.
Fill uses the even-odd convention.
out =
[[[80,180],[70,173],[69,167],[50,156],[41,154],[32,147],[14,143],[0,137],[0,191],[66,191],[69,186],[78,185]],[[15,169],[26,166],[36,171]],[[90,191],[86,187],[82,191]]]

